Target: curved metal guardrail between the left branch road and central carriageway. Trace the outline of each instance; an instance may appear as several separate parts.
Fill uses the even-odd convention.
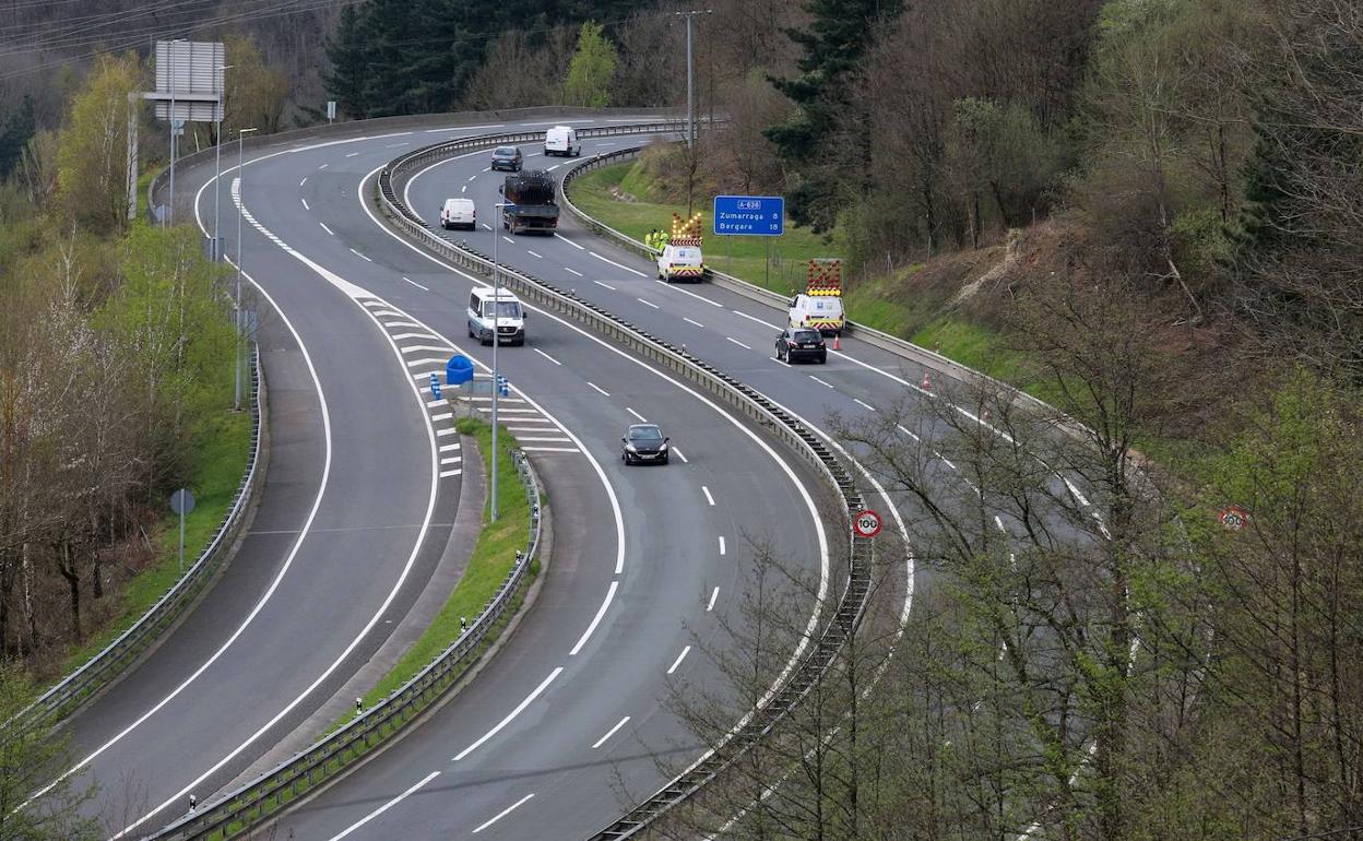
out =
[[[496,631],[510,620],[529,579],[532,562],[538,556],[542,518],[540,480],[519,450],[512,453],[517,472],[530,500],[530,532],[526,549],[518,553],[497,592],[483,611],[448,647],[391,695],[353,718],[341,729],[322,737],[255,780],[217,797],[196,811],[147,836],[146,841],[180,841],[185,838],[232,838],[259,825],[279,808],[316,788],[324,780],[365,756],[372,748],[401,731],[408,722],[439,701],[478,656],[496,639]]]

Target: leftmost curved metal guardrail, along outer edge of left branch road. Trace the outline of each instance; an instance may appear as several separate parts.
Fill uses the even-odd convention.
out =
[[[86,661],[80,668],[67,675],[37,701],[16,713],[5,728],[30,728],[40,724],[60,721],[64,716],[94,697],[99,690],[117,679],[124,669],[138,661],[161,634],[173,626],[194,604],[213,577],[222,567],[239,532],[245,521],[260,483],[264,468],[260,463],[262,417],[260,350],[251,360],[251,448],[245,474],[237,485],[232,507],[222,518],[213,541],[199,553],[198,560],[166,590],[138,622]]]

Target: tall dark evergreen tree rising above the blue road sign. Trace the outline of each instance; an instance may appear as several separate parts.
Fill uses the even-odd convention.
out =
[[[808,0],[810,25],[786,30],[804,50],[793,79],[773,79],[777,90],[799,106],[786,123],[766,129],[788,169],[797,181],[786,191],[795,221],[826,226],[836,215],[834,199],[840,177],[848,166],[866,172],[868,121],[851,113],[852,89],[866,48],[876,26],[901,10],[898,0]],[[834,142],[840,131],[852,128],[852,142]],[[845,177],[845,176],[842,176]]]

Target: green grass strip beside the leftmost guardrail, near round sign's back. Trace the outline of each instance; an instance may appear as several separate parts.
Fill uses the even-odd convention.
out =
[[[251,455],[251,413],[224,410],[207,418],[195,431],[199,454],[198,477],[189,483],[194,511],[184,519],[184,564],[188,568],[218,533],[222,518],[232,508],[232,499]],[[113,642],[146,613],[180,578],[180,518],[166,514],[154,534],[157,560],[132,577],[119,596],[117,616],[83,645],[72,647],[61,661],[61,673],[70,675]]]

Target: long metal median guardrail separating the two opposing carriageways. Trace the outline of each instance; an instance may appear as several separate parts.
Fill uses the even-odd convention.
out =
[[[578,129],[578,135],[592,138],[627,134],[661,134],[676,131],[680,125],[680,123],[669,121],[585,128]],[[408,174],[408,170],[416,166],[453,157],[469,149],[530,140],[538,136],[540,134],[489,135],[438,143],[402,155],[379,174],[376,185],[379,207],[401,232],[429,251],[446,258],[461,269],[491,278],[493,262],[465,244],[450,241],[435,233],[402,203],[394,180]],[[627,838],[643,831],[672,807],[701,791],[720,771],[726,769],[735,759],[769,733],[804,698],[833,662],[834,656],[842,647],[842,643],[853,631],[861,612],[866,609],[871,590],[872,542],[855,536],[851,530],[851,517],[864,507],[864,500],[857,492],[851,473],[823,446],[823,442],[796,417],[786,413],[755,388],[691,356],[684,348],[676,348],[635,327],[630,322],[607,312],[601,307],[579,299],[572,289],[562,289],[545,279],[511,269],[504,263],[499,264],[497,269],[499,282],[503,286],[514,289],[521,297],[590,327],[596,333],[613,339],[616,343],[660,364],[662,368],[702,386],[731,406],[740,409],[810,461],[844,502],[845,510],[842,517],[846,527],[845,533],[851,544],[848,552],[848,579],[833,619],[823,626],[812,650],[786,675],[785,682],[774,687],[765,699],[765,703],[735,727],[714,750],[619,821],[593,836],[593,838],[600,840]]]

